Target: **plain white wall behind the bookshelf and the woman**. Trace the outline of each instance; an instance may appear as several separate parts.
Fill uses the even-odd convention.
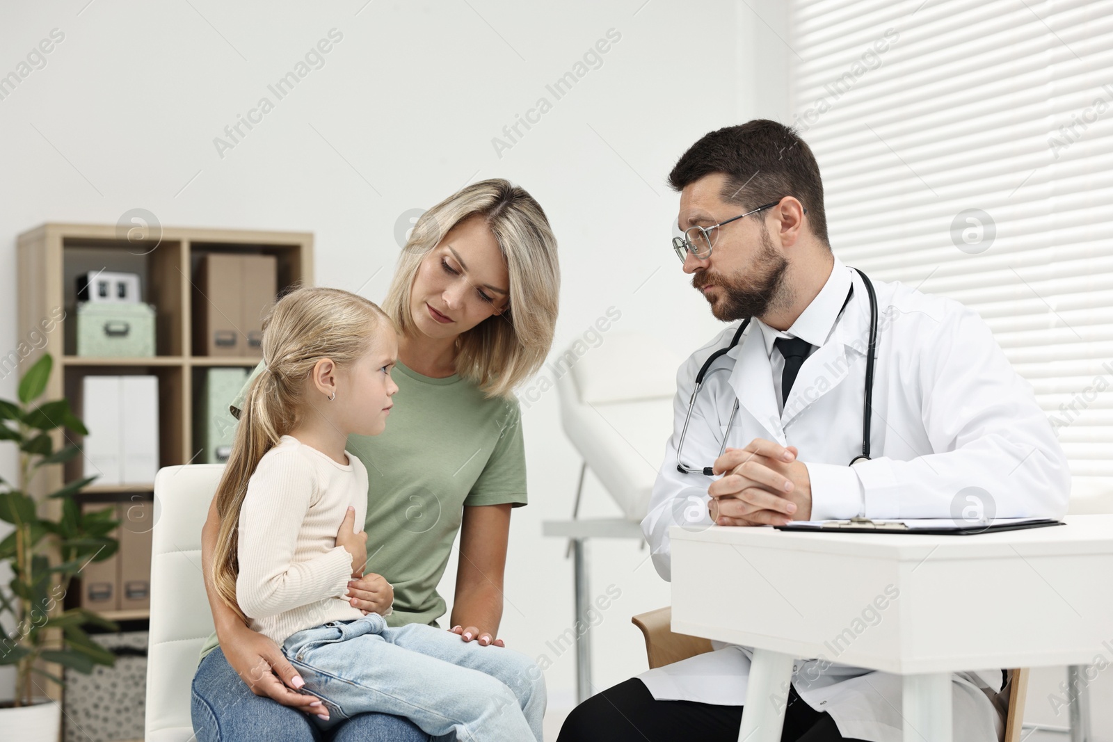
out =
[[[65,33],[46,67],[0,100],[3,354],[30,329],[16,320],[16,236],[43,221],[115,224],[144,208],[164,225],[308,230],[318,284],[381,299],[400,216],[493,176],[528,188],[560,240],[556,348],[609,306],[622,313],[613,332],[656,333],[681,355],[715,333],[670,249],[678,199],[666,176],[699,136],[752,117],[756,83],[742,72],[756,69],[761,47],[740,41],[769,42],[749,9],[761,6],[86,3],[0,11],[0,75],[52,29]],[[267,86],[334,28],[343,40],[325,66],[277,100]],[[546,83],[609,29],[621,40],[556,100]],[[214,138],[264,96],[274,110],[218,156]],[[552,109],[496,152],[492,138],[540,97]],[[0,397],[14,394],[14,376],[0,380]],[[502,634],[534,656],[552,655],[545,642],[573,621],[564,543],[540,535],[542,520],[570,513],[580,463],[556,408],[551,390],[525,412],[531,505],[515,512],[506,572]],[[0,475],[14,472],[11,446],[0,446]],[[584,512],[617,509],[589,481]],[[669,592],[638,546],[592,550],[593,593],[622,591],[595,632],[602,687],[644,669],[629,619],[667,604]],[[450,597],[453,577],[454,566]],[[552,659],[551,705],[570,706],[571,653]]]

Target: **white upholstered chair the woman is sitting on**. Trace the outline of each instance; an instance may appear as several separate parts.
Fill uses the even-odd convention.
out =
[[[201,526],[224,464],[167,466],[155,477],[147,652],[147,742],[189,742],[190,683],[213,614],[201,574]]]

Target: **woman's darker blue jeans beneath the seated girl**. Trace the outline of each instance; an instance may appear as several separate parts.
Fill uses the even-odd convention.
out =
[[[358,714],[322,733],[303,712],[252,693],[220,647],[194,675],[193,722],[198,742],[430,742],[408,719],[381,713]]]

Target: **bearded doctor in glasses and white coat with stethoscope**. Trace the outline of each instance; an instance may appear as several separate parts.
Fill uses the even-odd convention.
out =
[[[1067,463],[1032,387],[973,310],[870,281],[833,255],[819,168],[791,129],[755,120],[712,131],[669,181],[683,270],[731,325],[677,375],[673,433],[642,522],[662,577],[671,525],[1066,513]],[[716,647],[585,701],[560,742],[733,742],[751,651]],[[900,677],[833,660],[796,664],[782,740],[900,740]],[[1001,738],[1002,681],[997,669],[954,675],[956,742]]]

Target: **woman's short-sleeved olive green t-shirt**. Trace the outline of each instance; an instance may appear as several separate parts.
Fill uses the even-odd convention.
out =
[[[255,368],[232,407],[237,412]],[[394,585],[391,626],[436,624],[436,585],[466,505],[524,505],[525,448],[516,399],[487,398],[459,375],[432,378],[398,362],[386,429],[352,435],[347,451],[367,467],[367,567]],[[337,395],[335,404],[343,404]],[[337,524],[339,527],[339,524]],[[214,633],[201,657],[218,645]]]

